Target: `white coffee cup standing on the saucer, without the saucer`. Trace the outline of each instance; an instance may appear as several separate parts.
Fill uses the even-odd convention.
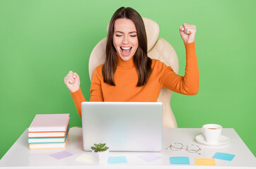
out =
[[[202,127],[202,133],[204,134],[206,142],[209,142],[210,144],[216,144],[219,142],[221,131],[221,125],[207,124]]]

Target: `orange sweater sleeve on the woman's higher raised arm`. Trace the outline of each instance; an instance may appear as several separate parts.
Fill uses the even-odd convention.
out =
[[[161,75],[162,87],[168,88],[180,94],[194,95],[199,90],[199,69],[195,44],[186,43],[186,68],[184,77],[177,75],[170,66],[163,70]]]

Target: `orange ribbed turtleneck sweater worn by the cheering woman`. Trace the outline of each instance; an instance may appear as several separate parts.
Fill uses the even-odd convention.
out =
[[[91,80],[90,101],[146,101],[155,102],[162,87],[180,94],[194,95],[199,89],[199,70],[194,42],[186,43],[186,68],[184,77],[177,75],[170,66],[161,61],[152,60],[152,73],[148,82],[142,87],[136,87],[138,75],[134,61],[123,61],[118,57],[117,70],[115,71],[115,86],[103,81],[102,68],[99,65],[93,72]],[[76,109],[81,117],[81,103],[86,101],[81,89],[71,92]]]

